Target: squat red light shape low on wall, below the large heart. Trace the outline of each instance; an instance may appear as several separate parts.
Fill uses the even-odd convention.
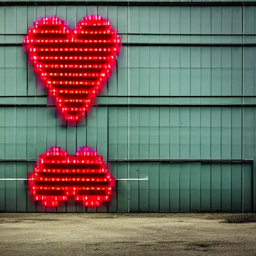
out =
[[[109,201],[115,186],[102,157],[88,147],[79,148],[75,155],[60,147],[48,149],[27,179],[30,194],[44,206],[58,206],[69,196],[87,207],[100,206],[102,201]]]

